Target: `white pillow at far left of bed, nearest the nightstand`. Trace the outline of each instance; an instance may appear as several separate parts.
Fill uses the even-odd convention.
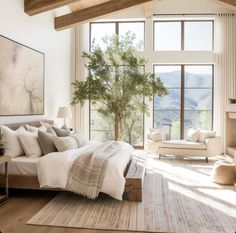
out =
[[[1,126],[1,132],[5,141],[5,155],[10,155],[14,158],[24,154],[18,137],[18,132],[20,131],[25,131],[23,126],[18,128],[17,130],[12,130],[4,125]]]

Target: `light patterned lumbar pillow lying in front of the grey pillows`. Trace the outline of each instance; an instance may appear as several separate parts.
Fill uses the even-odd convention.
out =
[[[71,136],[54,138],[54,144],[60,152],[78,147],[77,141]]]

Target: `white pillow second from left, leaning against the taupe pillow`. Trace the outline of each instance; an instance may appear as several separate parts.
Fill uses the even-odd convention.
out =
[[[30,132],[19,133],[19,139],[24,152],[27,156],[37,158],[43,155],[41,147],[39,145],[38,136]]]

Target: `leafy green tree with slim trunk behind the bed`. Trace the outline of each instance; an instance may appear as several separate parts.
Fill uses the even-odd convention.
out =
[[[147,60],[135,55],[134,38],[130,33],[122,38],[105,37],[105,51],[93,45],[91,52],[83,52],[82,57],[87,59],[87,79],[72,83],[72,105],[83,105],[87,100],[99,103],[98,112],[104,118],[114,118],[115,140],[123,140],[125,121],[133,114],[149,112],[144,97],[151,101],[154,95],[167,94],[160,78],[145,72]]]

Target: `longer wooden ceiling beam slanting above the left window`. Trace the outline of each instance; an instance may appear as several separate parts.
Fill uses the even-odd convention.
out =
[[[67,15],[56,17],[55,29],[65,29],[77,23],[86,22],[100,16],[108,15],[116,11],[151,1],[152,0],[111,0]]]

